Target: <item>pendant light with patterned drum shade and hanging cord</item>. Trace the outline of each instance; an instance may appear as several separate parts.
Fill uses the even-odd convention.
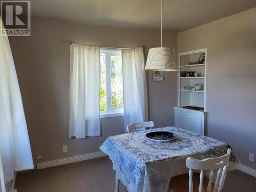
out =
[[[148,51],[145,70],[149,71],[177,71],[175,50],[162,47],[163,36],[163,0],[161,0],[161,47],[151,48]]]

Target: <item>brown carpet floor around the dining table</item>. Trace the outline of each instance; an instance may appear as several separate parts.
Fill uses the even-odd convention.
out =
[[[188,185],[188,184],[187,184]],[[108,157],[18,173],[18,192],[114,192],[115,172]],[[120,192],[126,187],[120,184]],[[256,178],[239,170],[228,172],[225,192],[255,192]]]

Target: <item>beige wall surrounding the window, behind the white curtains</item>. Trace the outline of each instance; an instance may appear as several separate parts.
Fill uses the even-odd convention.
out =
[[[177,46],[177,33],[165,32],[163,45]],[[99,151],[111,135],[124,131],[123,118],[101,119],[101,137],[68,138],[69,45],[61,40],[109,47],[160,45],[160,31],[100,27],[32,19],[31,37],[9,37],[24,103],[33,157],[41,162]],[[156,126],[174,124],[177,73],[164,73],[164,82],[147,74],[150,119]],[[68,153],[62,153],[62,145]],[[36,160],[35,160],[36,163]]]

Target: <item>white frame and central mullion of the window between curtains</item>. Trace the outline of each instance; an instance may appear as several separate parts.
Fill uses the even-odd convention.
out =
[[[119,56],[113,51],[121,49],[100,48],[100,54],[105,54],[105,90],[106,90],[106,111],[100,111],[100,118],[123,116],[123,108],[112,109],[112,88],[111,88],[111,56]],[[122,52],[121,52],[122,59]],[[123,73],[122,73],[123,75]],[[111,109],[111,110],[110,110]]]

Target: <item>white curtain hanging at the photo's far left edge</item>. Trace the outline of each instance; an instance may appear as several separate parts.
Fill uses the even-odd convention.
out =
[[[0,36],[0,153],[6,183],[13,179],[14,171],[34,168],[22,97],[7,36]]]

